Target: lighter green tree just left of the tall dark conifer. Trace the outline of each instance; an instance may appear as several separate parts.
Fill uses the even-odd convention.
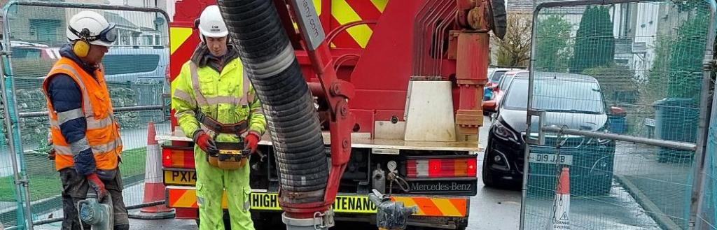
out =
[[[539,19],[536,24],[536,59],[534,70],[565,72],[570,57],[570,32],[572,25],[561,16],[552,15]]]

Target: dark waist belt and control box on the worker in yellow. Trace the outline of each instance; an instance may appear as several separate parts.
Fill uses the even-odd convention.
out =
[[[239,136],[241,133],[246,133],[248,127],[246,120],[242,120],[239,123],[222,124],[213,118],[209,118],[209,116],[205,115],[203,112],[199,112],[199,114],[196,115],[196,120],[199,120],[199,123],[203,124],[214,133],[233,134]],[[210,136],[215,138],[215,135]],[[227,170],[239,169],[246,166],[251,150],[244,146],[243,138],[239,136],[239,139],[238,143],[217,142],[215,140],[214,143],[217,145],[219,152],[214,154],[206,153],[206,161],[209,161],[209,165]]]

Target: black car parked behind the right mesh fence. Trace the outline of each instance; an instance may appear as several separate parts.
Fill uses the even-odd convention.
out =
[[[594,77],[564,73],[536,72],[533,108],[545,111],[543,125],[576,130],[609,132],[609,111],[600,85]],[[493,114],[488,145],[483,158],[483,183],[503,187],[523,181],[525,162],[528,77],[516,77]],[[537,136],[537,119],[531,123]],[[612,186],[614,140],[546,133],[544,145],[531,145],[530,188],[552,193],[557,146],[559,161],[570,168],[571,185],[594,195],[609,193]],[[537,177],[537,178],[536,178]],[[530,189],[529,189],[530,190]]]

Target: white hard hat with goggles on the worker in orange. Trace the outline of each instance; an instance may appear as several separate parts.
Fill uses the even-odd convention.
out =
[[[110,47],[117,40],[114,23],[95,11],[80,11],[68,21],[67,39],[85,39],[90,44]]]

